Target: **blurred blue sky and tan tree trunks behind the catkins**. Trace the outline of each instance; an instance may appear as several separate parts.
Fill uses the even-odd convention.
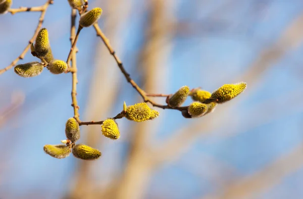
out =
[[[14,0],[12,8],[44,1]],[[99,25],[131,77],[147,93],[181,86],[247,89],[212,114],[186,119],[162,110],[153,121],[117,120],[121,138],[81,126],[96,161],[58,160],[45,144],[65,139],[73,116],[71,74],[44,70],[0,76],[0,198],[303,198],[303,2],[300,0],[100,0]],[[42,27],[56,59],[70,50],[71,9],[54,1]],[[0,66],[25,48],[39,13],[0,16]],[[77,18],[78,19],[78,18]],[[142,102],[114,58],[85,28],[78,41],[82,121],[99,121]],[[30,53],[19,64],[38,61]],[[165,99],[155,99],[165,103]],[[190,99],[185,104],[190,103]]]

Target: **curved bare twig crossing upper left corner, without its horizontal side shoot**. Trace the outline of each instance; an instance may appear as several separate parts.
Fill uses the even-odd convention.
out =
[[[43,23],[43,20],[44,20],[44,16],[45,16],[45,13],[46,13],[46,10],[48,8],[48,6],[50,4],[53,4],[53,1],[52,0],[48,0],[43,6],[41,6],[42,10],[41,10],[41,15],[40,15],[40,18],[39,18],[39,22],[38,22],[38,25],[37,25],[37,28],[35,30],[35,33],[34,35],[32,36],[32,38],[30,39],[30,41],[28,42],[28,45],[25,47],[25,49],[23,50],[23,52],[19,55],[19,57],[17,57],[9,66],[3,68],[0,70],[0,74],[6,72],[7,70],[11,69],[12,67],[14,67],[18,61],[20,59],[23,59],[24,56],[26,55],[27,51],[30,49],[30,46],[33,44],[33,42],[35,41],[37,35],[38,35],[38,32],[39,30],[41,29],[41,26],[42,26],[42,23]],[[20,11],[21,12],[21,11]]]

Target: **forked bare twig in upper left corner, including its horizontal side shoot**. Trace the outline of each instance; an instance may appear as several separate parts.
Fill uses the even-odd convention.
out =
[[[41,26],[42,26],[42,23],[43,23],[43,20],[44,20],[44,16],[45,16],[45,13],[46,13],[46,10],[47,10],[47,8],[48,8],[48,6],[49,5],[51,5],[51,4],[53,4],[53,0],[48,0],[43,6],[40,6],[40,7],[33,7],[33,8],[39,8],[39,9],[41,9],[41,15],[40,15],[40,17],[39,17],[39,22],[38,22],[38,25],[37,25],[37,28],[36,28],[36,30],[35,30],[35,33],[34,33],[34,35],[32,36],[32,38],[30,39],[30,41],[28,42],[28,45],[25,47],[25,49],[23,50],[23,52],[19,55],[19,57],[17,57],[9,66],[7,66],[7,67],[5,67],[5,68],[3,68],[3,69],[1,69],[0,70],[0,74],[2,74],[2,73],[4,73],[4,72],[6,72],[7,70],[9,70],[9,69],[11,69],[12,67],[14,67],[17,63],[18,63],[18,61],[20,60],[20,59],[23,59],[24,58],[24,56],[25,56],[25,54],[27,53],[27,51],[30,49],[30,46],[33,44],[33,42],[35,41],[35,39],[36,39],[36,37],[37,37],[37,35],[38,35],[38,32],[39,32],[39,30],[40,30],[40,28],[41,28]],[[15,11],[14,11],[14,9],[11,9],[11,10],[13,10],[12,12],[14,12],[14,13],[17,13],[17,12],[31,12],[31,9],[33,9],[33,8],[27,8],[27,9],[24,9],[24,8],[20,8],[19,10],[18,9],[15,9]],[[36,10],[34,9],[34,11],[33,12],[36,12]],[[18,10],[18,11],[17,11]],[[11,11],[10,11],[11,12]],[[11,12],[11,13],[12,13]],[[14,14],[14,13],[12,13],[12,14]]]

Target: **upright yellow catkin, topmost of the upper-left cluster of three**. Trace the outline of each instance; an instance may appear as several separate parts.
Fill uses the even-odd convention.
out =
[[[38,57],[43,58],[47,54],[49,47],[48,31],[46,28],[42,28],[38,32],[34,45],[35,53]]]

